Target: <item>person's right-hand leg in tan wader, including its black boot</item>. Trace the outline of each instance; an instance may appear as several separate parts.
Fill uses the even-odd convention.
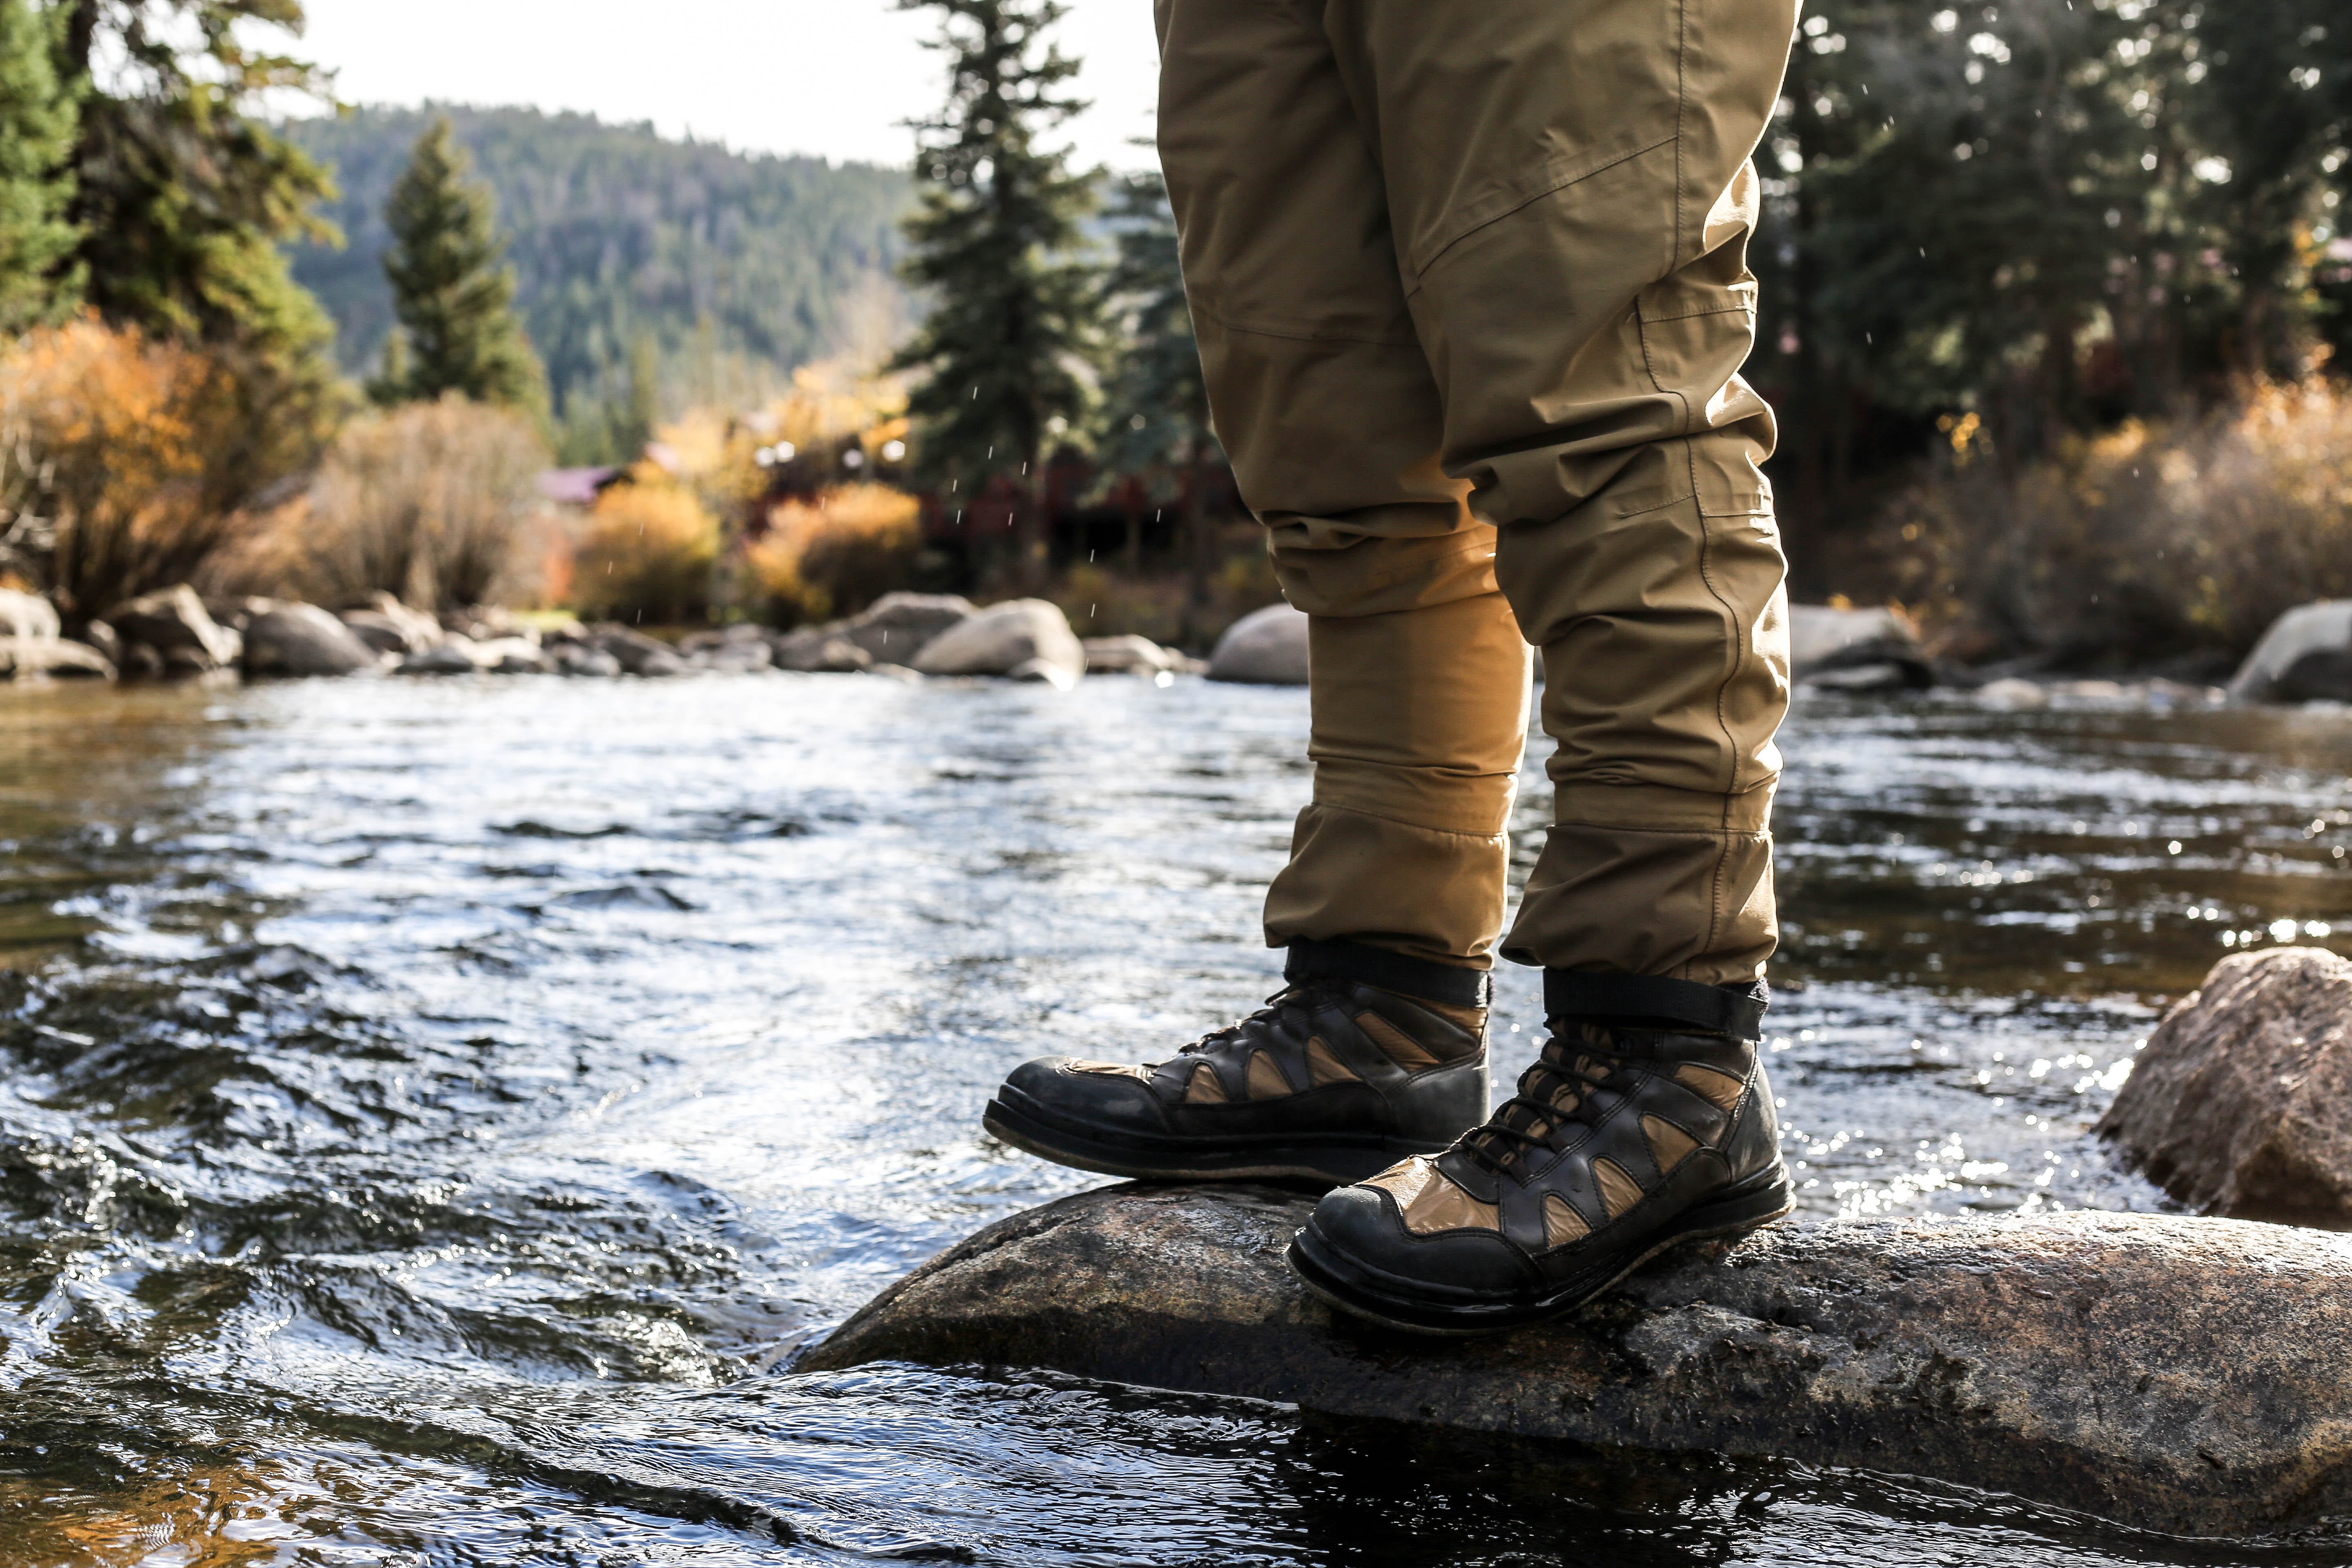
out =
[[[1444,470],[1545,661],[1555,827],[1505,957],[1555,1039],[1486,1128],[1331,1194],[1338,1305],[1505,1326],[1788,1206],[1755,1058],[1788,698],[1748,165],[1795,0],[1329,0]]]

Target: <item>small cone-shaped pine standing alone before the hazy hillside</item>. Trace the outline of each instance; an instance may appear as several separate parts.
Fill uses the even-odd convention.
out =
[[[499,266],[489,190],[470,176],[447,118],[416,141],[383,221],[393,230],[383,275],[407,341],[407,397],[461,393],[546,409],[546,374],[515,315],[515,275]]]

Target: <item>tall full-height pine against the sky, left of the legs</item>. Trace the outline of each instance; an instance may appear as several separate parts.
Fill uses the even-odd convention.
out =
[[[1058,0],[898,0],[938,9],[948,103],[915,125],[922,209],[908,219],[906,277],[931,310],[894,369],[922,369],[908,400],[920,470],[967,494],[1002,477],[1016,487],[1016,574],[1035,581],[1044,531],[1035,480],[1049,435],[1089,404],[1084,364],[1098,348],[1101,296],[1080,259],[1091,174],[1040,136],[1084,108],[1061,96],[1077,61],[1044,42],[1068,12]]]

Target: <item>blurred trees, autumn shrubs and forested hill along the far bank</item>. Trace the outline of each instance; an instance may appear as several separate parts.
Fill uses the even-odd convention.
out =
[[[299,0],[0,0],[0,571],[1204,644],[1272,581],[1160,181],[1056,150],[1056,0],[908,9],[946,94],[887,169],[336,108]],[[2352,595],[2340,9],[1806,7],[1748,367],[1799,597],[2194,672]]]

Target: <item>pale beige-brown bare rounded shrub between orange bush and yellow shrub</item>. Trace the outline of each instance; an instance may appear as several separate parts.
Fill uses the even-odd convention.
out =
[[[289,576],[327,604],[421,609],[527,597],[541,569],[536,425],[449,395],[350,421],[310,482]]]

